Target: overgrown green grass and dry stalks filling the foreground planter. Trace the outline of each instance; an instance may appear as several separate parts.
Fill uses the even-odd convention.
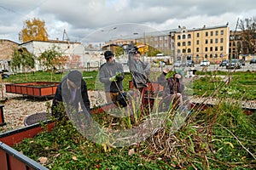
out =
[[[70,122],[57,122],[51,132],[26,139],[15,150],[33,160],[47,157],[44,166],[50,169],[252,169],[254,121],[236,103],[223,101],[194,112],[176,132],[170,130],[171,121],[140,144],[107,152]]]

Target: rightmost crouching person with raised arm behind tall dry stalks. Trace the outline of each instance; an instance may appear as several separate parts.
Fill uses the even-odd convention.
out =
[[[163,105],[160,105],[160,110],[162,111],[168,111],[171,104],[174,108],[183,105],[184,85],[181,81],[182,76],[180,73],[175,72],[173,77],[166,77],[168,73],[169,69],[165,69],[160,77],[158,77],[158,82],[160,85],[164,86]]]

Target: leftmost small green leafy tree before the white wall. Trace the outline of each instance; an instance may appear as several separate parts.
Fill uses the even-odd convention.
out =
[[[31,71],[35,67],[35,56],[29,53],[26,48],[14,49],[11,59],[11,69],[17,71]]]

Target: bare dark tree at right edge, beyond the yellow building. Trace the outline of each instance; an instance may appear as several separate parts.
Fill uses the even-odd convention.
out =
[[[240,20],[243,54],[254,54],[256,47],[256,17]]]

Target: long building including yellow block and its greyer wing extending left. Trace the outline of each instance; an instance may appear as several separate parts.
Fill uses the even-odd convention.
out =
[[[178,26],[177,29],[166,31],[144,32],[134,42],[157,49],[171,56],[172,61],[194,59],[195,63],[200,63],[208,59],[211,63],[218,63],[222,59],[229,59],[230,28],[228,24],[193,29]],[[113,43],[117,42],[113,40]]]

